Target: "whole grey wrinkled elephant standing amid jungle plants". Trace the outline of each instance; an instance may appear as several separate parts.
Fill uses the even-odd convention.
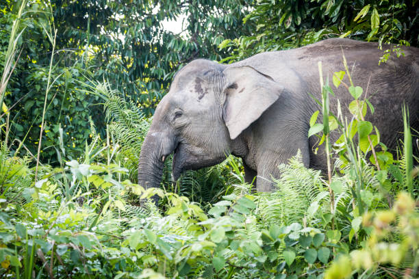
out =
[[[366,119],[394,148],[401,136],[397,132],[403,131],[403,102],[409,105],[412,127],[419,128],[419,49],[403,47],[405,57],[379,66],[383,51],[376,43],[330,39],[229,65],[197,59],[184,66],[157,105],[140,153],[138,183],[159,187],[164,159],[172,153],[175,181],[184,170],[216,165],[229,154],[241,157],[246,181],[257,176],[257,191],[272,189],[271,176],[280,175],[277,165],[297,150],[305,166],[325,170],[325,155],[312,151],[316,137],[307,137],[309,119],[319,109],[309,93],[320,99],[318,61],[330,80],[333,72],[344,70],[342,49],[355,85],[364,92],[368,88],[374,105]],[[350,116],[347,105],[353,98],[343,85],[333,90],[344,116]],[[331,110],[336,114],[335,100]]]

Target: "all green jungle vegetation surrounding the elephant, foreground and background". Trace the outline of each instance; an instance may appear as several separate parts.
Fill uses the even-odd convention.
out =
[[[166,160],[160,189],[136,184],[155,104],[191,59],[342,36],[396,43],[385,63],[418,46],[416,1],[300,2],[0,1],[0,277],[418,278],[418,131],[401,107],[390,152],[344,57],[310,120],[328,174],[296,154],[255,193],[231,156],[178,183]],[[162,27],[181,14],[186,34]],[[342,83],[351,119],[328,111]]]

